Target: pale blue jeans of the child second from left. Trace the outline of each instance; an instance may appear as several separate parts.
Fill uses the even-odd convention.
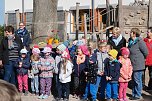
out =
[[[32,92],[39,93],[39,77],[34,76],[34,78],[31,79],[31,89]]]

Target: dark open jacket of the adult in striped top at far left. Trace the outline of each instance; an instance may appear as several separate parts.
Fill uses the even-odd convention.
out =
[[[18,52],[23,48],[21,39],[15,35],[15,40],[18,44]],[[2,60],[3,64],[9,63],[9,49],[8,49],[8,38],[4,37],[0,43],[0,60]]]

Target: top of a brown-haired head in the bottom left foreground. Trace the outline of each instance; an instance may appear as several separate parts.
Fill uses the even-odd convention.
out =
[[[21,101],[21,96],[17,88],[4,80],[0,80],[1,101]]]

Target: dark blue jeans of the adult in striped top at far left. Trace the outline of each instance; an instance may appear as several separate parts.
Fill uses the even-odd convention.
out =
[[[15,62],[9,61],[9,64],[4,65],[5,73],[4,80],[16,85],[16,75],[15,75]]]

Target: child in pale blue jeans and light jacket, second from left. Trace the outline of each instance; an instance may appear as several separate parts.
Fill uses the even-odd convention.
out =
[[[40,50],[39,48],[33,48],[32,49],[32,56],[31,56],[31,89],[32,94],[39,95],[39,69],[40,66]]]

